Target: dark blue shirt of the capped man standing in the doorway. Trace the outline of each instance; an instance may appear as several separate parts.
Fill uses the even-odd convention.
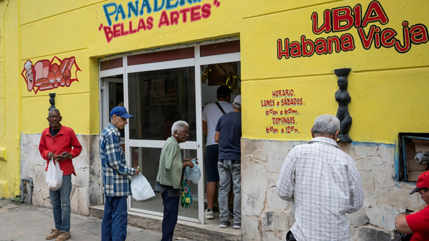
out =
[[[222,115],[215,130],[219,132],[219,159],[241,160],[241,113]]]

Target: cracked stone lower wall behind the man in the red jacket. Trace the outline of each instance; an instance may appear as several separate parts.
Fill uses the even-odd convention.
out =
[[[76,176],[72,175],[71,211],[89,215],[89,206],[100,204],[100,155],[98,136],[76,135],[82,145],[79,157],[73,159]],[[45,184],[46,161],[40,156],[41,134],[21,133],[21,178],[33,178],[33,205],[51,208],[49,188]]]

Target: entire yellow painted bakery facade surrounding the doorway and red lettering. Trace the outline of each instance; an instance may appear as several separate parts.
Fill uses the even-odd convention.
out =
[[[353,8],[357,3],[365,12],[369,0],[220,0],[219,7],[213,6],[213,0],[202,0],[173,10],[210,3],[211,16],[207,19],[190,22],[188,15],[187,23],[179,21],[178,25],[158,28],[161,12],[132,16],[113,21],[113,24],[123,22],[127,26],[131,20],[136,27],[139,18],[152,16],[153,29],[114,38],[108,43],[99,27],[107,25],[103,5],[113,2],[121,3],[128,14],[128,0],[9,0],[7,7],[0,0],[0,14],[5,13],[4,17],[0,16],[0,47],[3,48],[0,51],[0,110],[6,107],[4,114],[0,111],[0,148],[6,150],[6,161],[0,160],[0,185],[7,189],[0,196],[19,192],[14,181],[14,178],[19,179],[19,134],[41,133],[47,127],[48,93],[57,93],[56,105],[61,110],[64,125],[78,134],[98,134],[99,57],[208,39],[240,37],[245,138],[310,139],[309,129],[314,118],[336,112],[334,93],[338,87],[333,70],[344,67],[352,69],[348,90],[353,117],[350,136],[354,141],[392,143],[397,141],[399,132],[429,132],[429,124],[425,121],[429,117],[426,93],[429,43],[412,45],[410,51],[399,54],[393,48],[364,50],[354,27],[320,35],[311,31],[312,12],[321,17],[325,9]],[[175,3],[175,0],[170,2]],[[426,0],[380,0],[380,3],[389,22],[375,25],[393,28],[399,38],[402,38],[404,20],[410,25],[429,25],[425,12],[429,2]],[[314,41],[344,33],[353,35],[353,51],[277,59],[277,39],[299,41],[305,35]],[[76,57],[82,70],[77,72],[79,82],[36,94],[29,92],[21,76],[26,60],[34,64],[54,56],[60,59]],[[281,88],[292,88],[295,97],[304,99],[305,106],[293,107],[299,111],[295,116],[298,124],[294,126],[299,134],[265,133],[271,119],[260,106],[260,100],[272,99],[272,90]]]

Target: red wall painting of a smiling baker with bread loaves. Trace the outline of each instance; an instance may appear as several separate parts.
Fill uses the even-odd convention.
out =
[[[27,83],[27,90],[37,93],[39,90],[51,90],[57,87],[69,87],[74,81],[78,81],[77,72],[81,71],[76,64],[75,57],[58,57],[49,60],[39,60],[34,65],[31,60],[24,63],[21,72]]]

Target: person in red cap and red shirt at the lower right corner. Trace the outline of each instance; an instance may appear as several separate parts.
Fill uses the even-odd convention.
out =
[[[410,193],[420,193],[426,202],[418,211],[406,214],[402,213],[395,218],[396,230],[402,233],[414,233],[410,241],[429,240],[429,171],[420,174],[417,179],[417,187]]]

